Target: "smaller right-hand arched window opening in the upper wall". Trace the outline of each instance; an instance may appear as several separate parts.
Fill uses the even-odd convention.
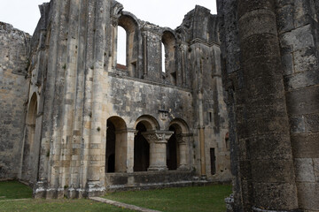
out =
[[[176,85],[177,72],[176,72],[176,61],[175,61],[175,55],[176,55],[175,34],[171,32],[170,30],[165,30],[162,34],[161,41],[164,45],[164,49],[162,49],[162,51],[165,51],[165,58],[162,58],[162,60],[165,61],[164,64],[165,64],[166,77],[171,84]],[[164,67],[162,67],[162,69],[164,69]]]

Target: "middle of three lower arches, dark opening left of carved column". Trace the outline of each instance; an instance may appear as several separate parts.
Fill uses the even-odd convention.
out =
[[[137,118],[135,129],[134,171],[146,171],[150,166],[150,144],[143,133],[158,130],[159,123],[155,117],[144,115]]]

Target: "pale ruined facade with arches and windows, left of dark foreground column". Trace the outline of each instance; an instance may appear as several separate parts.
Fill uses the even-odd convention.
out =
[[[40,11],[19,56],[30,62],[16,68],[27,88],[17,92],[18,109],[2,109],[26,120],[10,117],[19,129],[1,140],[0,156],[14,144],[17,162],[4,161],[1,178],[26,181],[46,198],[230,180],[217,16],[196,6],[173,30],[109,0],[55,0]],[[117,63],[118,27],[127,32],[126,64]]]

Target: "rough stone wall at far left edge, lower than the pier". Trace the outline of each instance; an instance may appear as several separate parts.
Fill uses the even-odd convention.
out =
[[[25,125],[30,35],[0,22],[0,178],[18,178]]]

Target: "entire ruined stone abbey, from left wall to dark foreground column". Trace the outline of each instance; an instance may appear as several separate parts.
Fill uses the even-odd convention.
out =
[[[0,22],[0,178],[35,198],[232,179],[228,211],[318,212],[319,1],[217,6],[175,30],[114,0],[42,4],[32,36]]]

